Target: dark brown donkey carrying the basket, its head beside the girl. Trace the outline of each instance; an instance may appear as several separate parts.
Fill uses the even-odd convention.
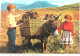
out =
[[[37,36],[33,35],[33,36],[28,37],[28,43],[30,43],[31,39],[40,39],[41,40],[41,49],[42,49],[42,52],[44,50],[47,51],[48,37],[51,34],[54,35],[54,37],[58,36],[58,32],[56,34],[56,30],[57,30],[57,20],[58,20],[59,16],[55,17],[55,20],[54,19],[50,19],[47,22],[45,22],[42,25],[42,27],[39,29],[39,31],[40,31],[39,35],[37,35]],[[27,39],[27,37],[25,37],[25,38]]]

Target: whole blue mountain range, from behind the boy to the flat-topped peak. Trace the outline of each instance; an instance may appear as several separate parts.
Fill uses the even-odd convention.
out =
[[[48,7],[58,7],[58,5],[52,5],[48,3],[47,1],[36,1],[33,4],[30,5],[24,5],[24,4],[16,4],[16,9],[22,9],[22,10],[28,10],[28,9],[36,9],[36,8],[48,8]],[[8,2],[1,4],[1,11],[7,10],[7,6],[9,5]]]

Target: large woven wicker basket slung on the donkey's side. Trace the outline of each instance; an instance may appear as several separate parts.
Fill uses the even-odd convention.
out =
[[[40,35],[40,28],[43,25],[41,19],[27,19],[24,25],[20,26],[20,32],[22,37]]]

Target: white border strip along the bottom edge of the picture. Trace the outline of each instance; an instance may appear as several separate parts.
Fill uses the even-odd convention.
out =
[[[0,56],[80,56],[80,54],[0,54]]]

